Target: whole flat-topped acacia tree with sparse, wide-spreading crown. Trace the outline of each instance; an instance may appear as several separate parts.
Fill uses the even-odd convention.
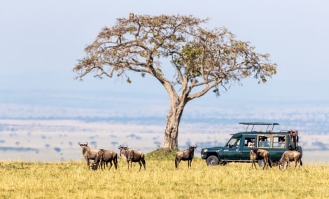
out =
[[[73,71],[79,79],[93,73],[99,78],[116,75],[131,83],[128,71],[158,79],[170,101],[163,146],[175,149],[181,116],[190,100],[209,90],[219,95],[220,88],[226,90],[249,76],[266,83],[276,74],[268,54],[256,53],[255,47],[238,41],[224,27],[202,28],[207,22],[192,15],[130,13],[99,32]],[[167,70],[174,70],[174,76],[166,76]]]

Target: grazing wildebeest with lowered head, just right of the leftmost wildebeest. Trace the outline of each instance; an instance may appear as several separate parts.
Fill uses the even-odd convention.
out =
[[[96,158],[94,158],[94,163],[92,165],[92,169],[97,170],[97,167],[103,169],[103,163],[106,163],[106,167],[107,167],[107,163],[110,163],[109,170],[111,170],[111,167],[113,166],[113,164],[114,164],[114,168],[117,169],[118,168],[118,153],[116,153],[114,151],[100,149],[97,153]],[[105,168],[105,165],[104,165],[104,168]]]

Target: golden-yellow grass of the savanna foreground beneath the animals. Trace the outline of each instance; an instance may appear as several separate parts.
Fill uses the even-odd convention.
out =
[[[146,171],[119,158],[118,170],[88,170],[84,160],[0,162],[0,198],[329,198],[329,164],[251,170],[251,163],[207,167],[195,158],[146,156]]]

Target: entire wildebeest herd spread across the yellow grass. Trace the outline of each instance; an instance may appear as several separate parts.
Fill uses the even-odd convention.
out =
[[[88,168],[92,168],[92,170],[99,170],[108,167],[108,163],[110,163],[109,169],[114,164],[114,168],[118,168],[118,153],[115,151],[105,150],[105,149],[93,149],[90,146],[88,146],[88,143],[81,144],[78,143],[81,146],[83,158],[85,158],[85,161],[87,163]],[[175,156],[175,167],[176,169],[179,168],[179,163],[181,160],[188,161],[188,168],[191,167],[192,160],[194,157],[194,150],[197,148],[196,144],[190,144],[189,148],[183,151],[177,151]],[[120,145],[118,147],[120,150],[120,157],[127,160],[128,170],[132,169],[132,163],[139,163],[139,171],[141,170],[141,167],[144,167],[144,170],[146,170],[146,161],[145,161],[145,155],[141,151],[136,151],[134,149],[129,149],[127,145],[123,146]],[[255,166],[255,169],[257,170],[257,167],[255,165],[256,160],[263,160],[264,165],[262,169],[264,170],[269,167],[272,167],[272,160],[269,158],[269,152],[264,149],[258,149],[256,147],[251,148],[250,151],[250,160],[251,160],[251,168]],[[90,160],[94,160],[92,165],[90,165]],[[295,167],[300,167],[302,165],[302,153],[298,151],[285,151],[280,160],[279,160],[279,169],[284,170],[288,167],[290,161],[295,162]]]

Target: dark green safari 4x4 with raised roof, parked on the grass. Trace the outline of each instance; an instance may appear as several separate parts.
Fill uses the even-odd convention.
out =
[[[297,130],[274,132],[274,127],[279,123],[239,124],[246,125],[246,131],[232,134],[225,146],[201,149],[201,158],[206,160],[207,165],[225,165],[229,162],[250,163],[249,153],[252,147],[269,151],[269,158],[274,164],[279,162],[284,151],[294,150],[302,153],[302,147],[298,146]],[[262,165],[263,161],[258,161],[258,164]]]

